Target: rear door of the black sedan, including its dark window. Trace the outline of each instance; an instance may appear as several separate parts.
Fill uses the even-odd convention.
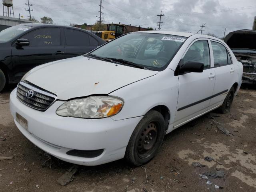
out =
[[[64,29],[66,44],[65,58],[86,54],[98,46],[98,41],[87,32],[75,29]]]

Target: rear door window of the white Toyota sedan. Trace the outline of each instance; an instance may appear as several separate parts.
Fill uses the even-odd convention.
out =
[[[211,41],[211,43],[213,50],[214,66],[231,64],[231,58],[228,50],[218,42]]]

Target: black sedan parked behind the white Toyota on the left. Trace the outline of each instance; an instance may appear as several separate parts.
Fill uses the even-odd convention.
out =
[[[0,32],[0,91],[35,66],[83,55],[106,43],[75,27],[21,24]]]

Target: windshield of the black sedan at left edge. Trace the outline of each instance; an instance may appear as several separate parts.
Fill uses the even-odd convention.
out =
[[[24,33],[26,30],[29,30],[30,28],[32,27],[26,25],[16,25],[9,27],[5,30],[2,30],[0,32],[0,41],[8,42],[12,38],[19,36],[20,34]]]

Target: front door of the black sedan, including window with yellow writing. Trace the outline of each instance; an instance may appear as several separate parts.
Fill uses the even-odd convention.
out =
[[[28,70],[40,64],[64,59],[64,45],[61,45],[60,28],[39,28],[24,34],[29,46],[12,44],[14,76],[19,80]]]

